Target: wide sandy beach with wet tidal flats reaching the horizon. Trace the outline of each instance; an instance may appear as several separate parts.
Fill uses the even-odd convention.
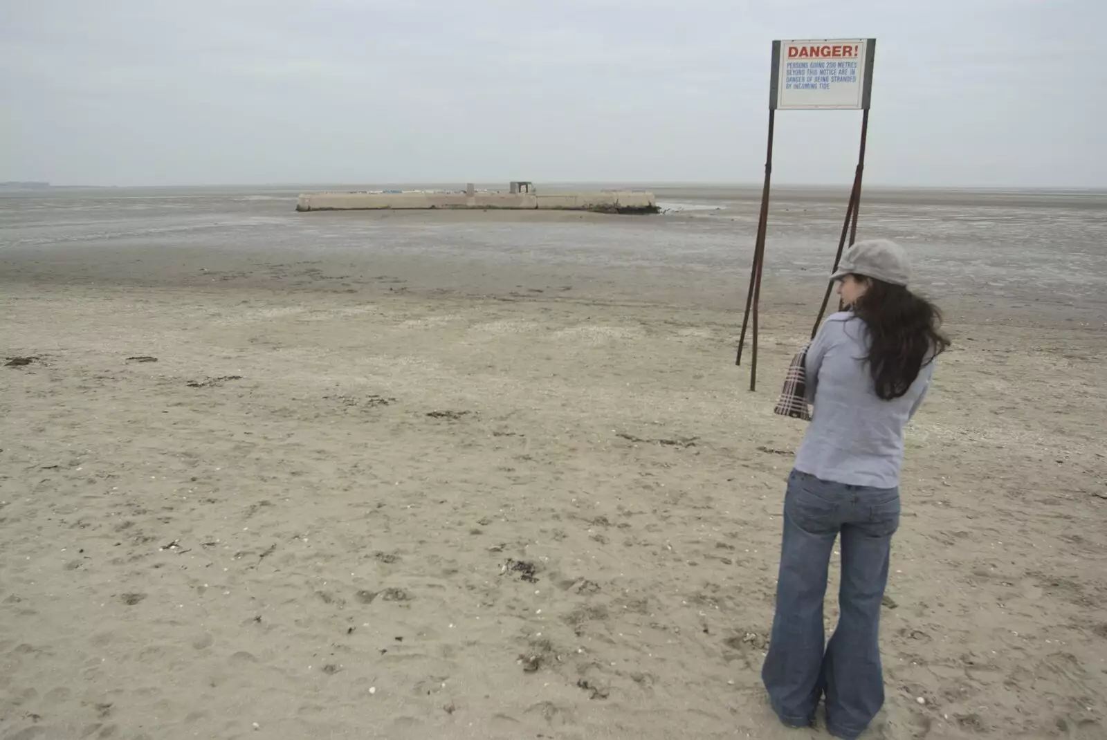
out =
[[[774,195],[751,393],[756,189],[655,191],[0,198],[0,738],[829,737],[758,671],[846,197]],[[865,737],[1105,738],[1107,195],[866,198],[954,348]]]

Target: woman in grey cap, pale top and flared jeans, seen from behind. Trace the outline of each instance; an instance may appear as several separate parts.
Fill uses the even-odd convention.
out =
[[[908,290],[899,246],[860,241],[831,280],[848,311],[807,350],[810,427],[784,499],[776,616],[762,679],[785,725],[807,727],[826,696],[827,726],[856,738],[884,701],[878,633],[899,527],[903,427],[922,404],[949,340],[934,305]],[[825,643],[823,598],[841,536],[838,626]]]

